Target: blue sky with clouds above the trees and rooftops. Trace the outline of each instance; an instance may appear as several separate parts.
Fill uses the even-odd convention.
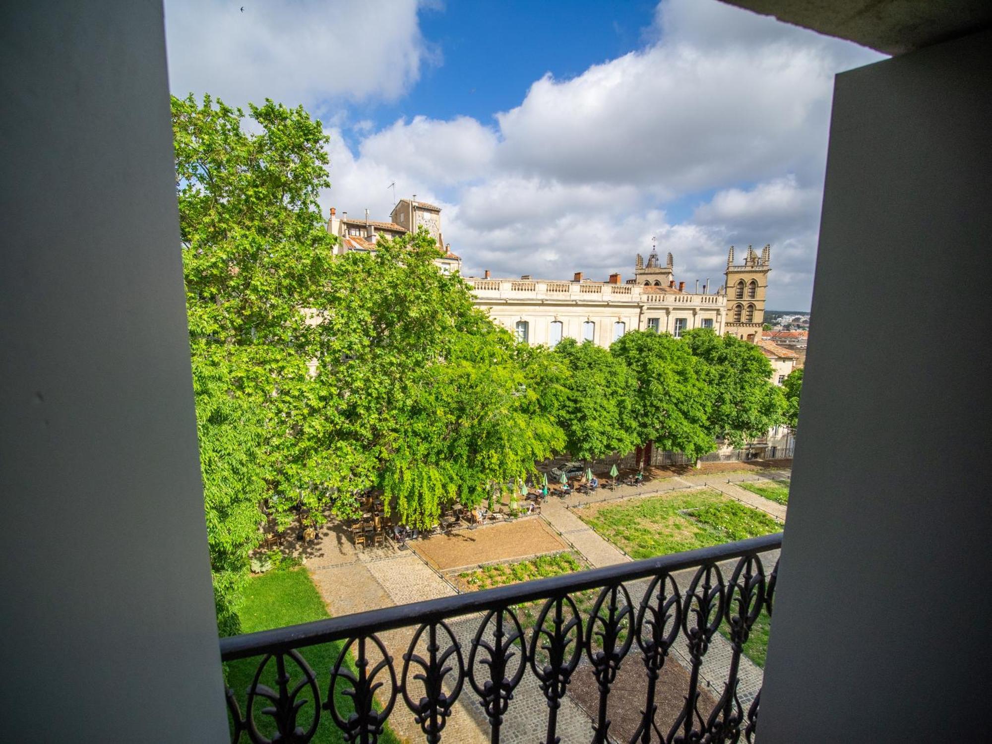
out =
[[[244,6],[244,12],[241,11]],[[173,92],[304,104],[324,208],[442,207],[464,273],[715,284],[772,245],[769,304],[806,310],[833,75],[883,59],[716,0],[166,0]]]

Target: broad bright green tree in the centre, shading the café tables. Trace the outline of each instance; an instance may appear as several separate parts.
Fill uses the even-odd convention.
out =
[[[464,282],[436,269],[439,255],[424,231],[348,254],[320,311],[316,376],[334,377],[338,395],[333,419],[312,425],[310,454],[351,449],[363,458],[351,488],[382,486],[418,526],[445,503],[488,498],[562,444],[549,365],[476,310]],[[351,499],[339,491],[339,514]]]

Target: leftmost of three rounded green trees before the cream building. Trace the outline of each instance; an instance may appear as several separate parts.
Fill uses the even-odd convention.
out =
[[[552,355],[563,370],[565,395],[558,423],[565,451],[572,457],[594,460],[613,452],[629,452],[641,440],[631,433],[631,392],[635,381],[626,365],[591,341],[564,338]]]

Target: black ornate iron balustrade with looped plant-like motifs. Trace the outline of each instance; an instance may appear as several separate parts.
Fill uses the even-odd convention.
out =
[[[490,739],[498,742],[505,718],[514,712],[514,691],[529,671],[547,700],[544,742],[557,743],[558,710],[583,656],[599,692],[598,709],[591,715],[591,740],[615,741],[609,734],[607,700],[621,664],[635,664],[638,660],[628,657],[639,656],[647,676],[647,694],[630,744],[753,742],[761,693],[745,710],[738,694],[740,659],[762,609],[772,612],[778,562],[766,572],[760,556],[781,545],[782,534],[778,533],[223,638],[224,662],[262,657],[243,712],[234,691],[226,690],[233,741],[246,736],[254,744],[309,742],[323,710],[345,741],[372,744],[390,715],[399,715],[397,702],[402,701],[426,740],[439,742],[459,695],[474,693],[488,718]],[[731,560],[736,562],[731,565]],[[574,597],[597,589],[591,611],[583,616]],[[637,601],[632,595],[641,598]],[[533,627],[525,628],[519,608],[536,602],[542,603],[537,619]],[[482,618],[470,648],[463,649],[447,621],[472,613],[481,613]],[[732,648],[729,672],[716,704],[703,714],[700,671],[713,635],[723,623]],[[416,631],[400,665],[377,634],[410,627]],[[311,670],[299,650],[334,641],[343,642],[336,663],[330,669]],[[682,711],[668,724],[655,719],[656,695],[662,669],[680,643],[684,644],[689,682],[682,690]],[[638,653],[631,654],[635,649]],[[346,664],[351,653],[354,672]],[[260,682],[270,665],[275,665],[278,689]],[[323,681],[327,686],[321,694],[319,682]],[[351,699],[353,711],[337,709],[335,690]],[[300,723],[301,709],[308,703],[311,712]],[[257,715],[269,719],[272,738],[260,730]]]

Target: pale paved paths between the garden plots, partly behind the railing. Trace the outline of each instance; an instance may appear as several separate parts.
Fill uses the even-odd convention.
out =
[[[785,475],[788,476],[788,472]],[[721,473],[719,476],[709,475],[708,477],[689,475],[653,481],[641,489],[627,486],[617,488],[614,492],[603,490],[592,497],[572,494],[565,499],[551,498],[547,500],[542,510],[541,519],[560,534],[562,539],[590,565],[600,567],[628,561],[630,558],[600,537],[566,507],[593,501],[612,500],[623,496],[637,496],[639,490],[641,495],[647,496],[667,490],[701,487],[705,482],[705,485],[709,487],[718,487],[718,490],[727,493],[727,495],[739,498],[751,506],[764,509],[770,514],[775,513],[776,510],[772,509],[775,507],[781,511],[781,519],[785,518],[786,509],[784,506],[752,494],[750,491],[733,485],[733,483],[728,484],[726,482],[728,477],[736,481],[758,479],[753,473],[729,475]],[[777,555],[768,557],[768,571],[771,571],[776,558]],[[356,550],[343,532],[330,528],[322,530],[318,540],[308,548],[305,562],[328,611],[333,616],[449,596],[455,593],[454,587],[447,583],[434,568],[412,552],[400,552],[392,547]],[[729,570],[732,570],[732,566],[728,566],[727,575],[729,575]],[[691,581],[692,575],[693,571],[682,571],[676,576],[676,579],[684,588]],[[647,580],[627,584],[631,601],[635,607],[640,604],[647,584]],[[466,664],[472,640],[481,620],[481,615],[473,614],[453,619],[447,623],[462,649]],[[393,657],[398,675],[402,671],[403,655],[407,652],[415,631],[416,628],[403,628],[380,634],[380,639],[390,656]],[[529,638],[530,633],[527,636]],[[424,645],[423,641],[421,645]],[[687,669],[689,663],[683,647],[684,643],[677,646],[673,658]],[[422,654],[423,652],[424,650],[421,649]],[[710,649],[704,658],[700,677],[701,684],[706,685],[716,697],[723,690],[723,684],[729,672],[731,656],[730,643],[719,634],[714,635]],[[636,661],[635,657],[636,652],[632,650],[626,663]],[[375,661],[373,660],[373,663]],[[754,694],[761,688],[762,678],[762,671],[750,660],[742,657],[738,693],[745,710]],[[541,692],[533,672],[529,670],[524,675],[513,700],[510,702],[510,710],[506,715],[501,731],[501,740],[508,744],[543,740],[547,721],[547,700]],[[561,701],[561,708],[558,710],[558,736],[562,742],[588,740],[592,735],[591,724],[590,717],[571,697],[566,696]],[[390,716],[390,725],[403,740],[421,741],[424,738],[420,727],[414,723],[413,714],[402,699],[397,700],[393,714]],[[465,742],[466,744],[475,744],[475,742],[482,744],[489,740],[488,721],[477,695],[474,694],[467,680],[452,715],[448,719],[442,739],[449,742]]]

